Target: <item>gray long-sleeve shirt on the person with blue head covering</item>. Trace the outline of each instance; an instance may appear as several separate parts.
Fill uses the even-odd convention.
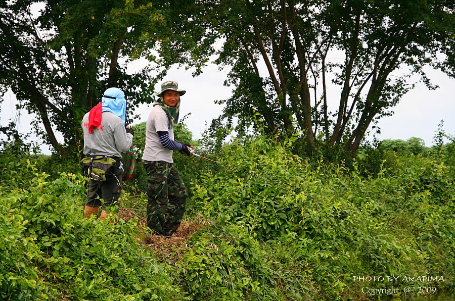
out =
[[[121,157],[131,146],[132,135],[126,133],[120,117],[111,112],[103,112],[101,125],[88,133],[88,114],[82,119],[84,131],[84,154]]]

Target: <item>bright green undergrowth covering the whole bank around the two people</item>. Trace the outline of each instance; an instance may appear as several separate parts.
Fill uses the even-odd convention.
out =
[[[250,137],[212,157],[257,177],[190,159],[187,219],[210,225],[161,263],[138,243],[136,219],[82,218],[80,175],[49,175],[52,157],[0,154],[0,298],[364,299],[353,277],[373,275],[444,277],[398,281],[398,291],[454,289],[450,143],[427,157],[388,150],[390,161],[364,177],[366,161],[302,160],[296,142]]]

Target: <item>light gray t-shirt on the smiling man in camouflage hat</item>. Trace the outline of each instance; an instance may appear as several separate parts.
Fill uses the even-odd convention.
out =
[[[146,123],[146,146],[142,160],[146,161],[165,161],[174,163],[172,160],[172,150],[161,145],[158,131],[169,132],[169,138],[174,140],[174,124],[166,115],[161,106],[154,106],[147,118]]]

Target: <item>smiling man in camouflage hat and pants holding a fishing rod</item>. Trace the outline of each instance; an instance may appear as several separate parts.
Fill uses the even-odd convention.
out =
[[[147,171],[147,226],[173,239],[187,202],[185,184],[172,165],[172,151],[190,156],[190,145],[174,141],[174,124],[178,122],[180,96],[186,93],[175,81],[165,81],[146,123],[146,144],[142,156]]]

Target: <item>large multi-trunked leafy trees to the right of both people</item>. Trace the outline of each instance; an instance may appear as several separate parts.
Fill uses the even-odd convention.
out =
[[[390,115],[423,67],[454,76],[455,4],[449,1],[237,1],[207,5],[211,26],[225,38],[217,63],[231,66],[226,84],[233,96],[224,120],[237,130],[254,126],[260,114],[268,134],[304,132],[308,148],[325,142],[354,155],[367,129]],[[328,54],[343,53],[342,63]],[[440,59],[439,54],[445,58]],[[263,73],[261,66],[265,66]],[[404,75],[392,75],[408,69]],[[332,77],[332,84],[328,78]],[[327,93],[338,87],[338,110],[331,118]],[[317,90],[321,88],[321,95]]]

